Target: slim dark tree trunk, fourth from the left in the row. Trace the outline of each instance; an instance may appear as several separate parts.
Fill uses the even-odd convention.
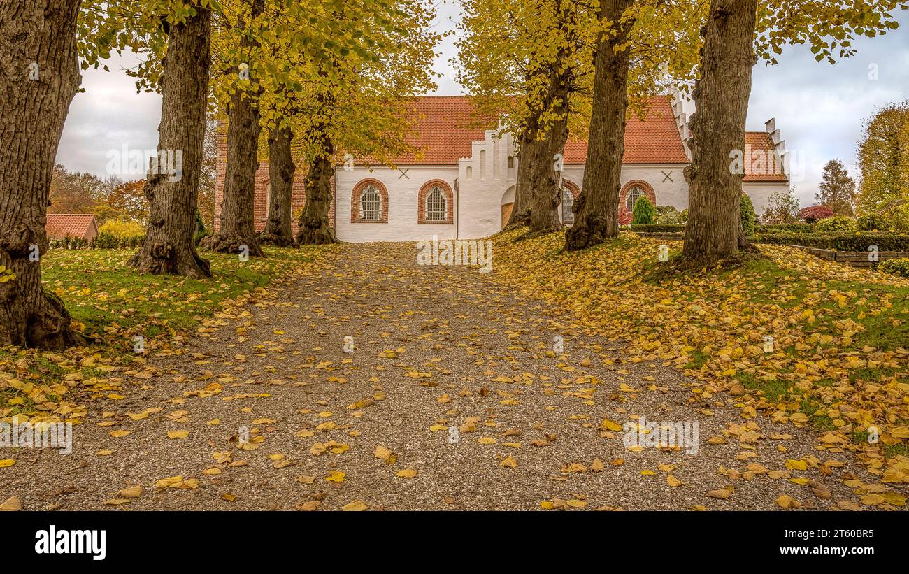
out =
[[[265,230],[258,236],[259,242],[265,245],[294,246],[294,233],[290,226],[296,170],[290,149],[293,140],[294,133],[287,125],[275,127],[268,136],[268,179],[271,191],[268,195],[268,220]]]

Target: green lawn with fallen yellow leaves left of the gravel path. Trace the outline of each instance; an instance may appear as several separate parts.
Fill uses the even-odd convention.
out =
[[[222,305],[305,269],[331,247],[265,248],[264,259],[202,254],[212,279],[136,272],[126,265],[134,250],[51,250],[42,259],[45,289],[60,295],[89,346],[61,353],[0,349],[0,419],[54,411],[66,378],[103,378],[112,365],[136,360],[135,335],[146,350],[185,335]]]

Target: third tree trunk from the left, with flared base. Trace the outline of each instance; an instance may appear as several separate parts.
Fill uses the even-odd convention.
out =
[[[265,0],[248,0],[255,20],[265,12]],[[246,34],[242,44],[247,54],[255,59],[259,42]],[[227,112],[227,164],[225,166],[224,198],[217,233],[203,241],[206,249],[222,253],[238,253],[264,257],[265,253],[255,239],[255,172],[259,168],[259,134],[262,126],[259,115],[259,97],[262,85],[250,78],[255,85],[249,89],[237,88],[231,96]]]

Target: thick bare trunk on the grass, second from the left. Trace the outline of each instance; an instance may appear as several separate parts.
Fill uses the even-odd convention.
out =
[[[141,272],[211,277],[207,260],[195,251],[196,205],[205,153],[205,112],[211,64],[211,10],[172,26],[164,59],[163,103],[158,157],[176,157],[178,172],[158,162],[145,182],[151,204],[145,242],[129,264]],[[176,155],[180,153],[182,155]],[[184,168],[185,166],[185,168]]]

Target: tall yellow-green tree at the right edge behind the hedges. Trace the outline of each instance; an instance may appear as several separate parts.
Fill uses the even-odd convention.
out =
[[[859,213],[909,228],[909,101],[885,106],[865,122],[858,158]]]

